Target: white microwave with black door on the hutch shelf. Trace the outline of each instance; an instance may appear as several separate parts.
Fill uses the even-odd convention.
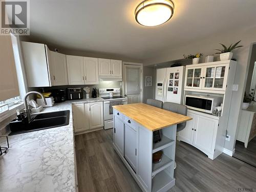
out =
[[[222,98],[208,95],[186,95],[185,105],[188,109],[212,114],[216,106],[221,105]]]

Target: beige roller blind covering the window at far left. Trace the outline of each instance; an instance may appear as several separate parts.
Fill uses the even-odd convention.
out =
[[[11,36],[0,35],[0,101],[19,95]]]

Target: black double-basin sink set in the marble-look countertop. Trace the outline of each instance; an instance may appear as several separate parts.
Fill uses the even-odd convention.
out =
[[[70,111],[57,111],[51,113],[41,113],[38,115],[32,115],[31,121],[28,124],[17,126],[10,126],[11,133],[9,135],[16,135],[22,133],[28,133],[33,131],[50,129],[57,126],[64,126],[69,124]],[[15,121],[12,124],[15,124]]]

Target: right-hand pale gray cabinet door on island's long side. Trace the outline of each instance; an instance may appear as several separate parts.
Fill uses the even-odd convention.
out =
[[[124,157],[131,165],[134,172],[137,168],[137,130],[131,126],[124,125]]]

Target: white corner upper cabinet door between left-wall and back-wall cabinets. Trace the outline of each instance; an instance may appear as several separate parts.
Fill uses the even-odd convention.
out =
[[[67,60],[66,55],[57,53],[57,52],[51,52],[51,82],[53,86],[64,86],[68,84],[68,73],[67,73]],[[52,72],[51,72],[52,71]]]

